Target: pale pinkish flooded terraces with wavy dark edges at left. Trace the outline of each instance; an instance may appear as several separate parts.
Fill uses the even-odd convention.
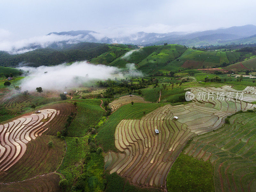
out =
[[[57,114],[55,109],[43,109],[40,113],[22,116],[0,125],[0,171],[7,171],[24,155],[27,143],[47,130]]]

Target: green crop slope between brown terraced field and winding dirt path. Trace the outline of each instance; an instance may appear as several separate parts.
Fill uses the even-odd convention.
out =
[[[99,99],[73,100],[77,103],[77,114],[68,127],[68,136],[83,137],[91,125],[96,125],[105,111],[100,107]]]

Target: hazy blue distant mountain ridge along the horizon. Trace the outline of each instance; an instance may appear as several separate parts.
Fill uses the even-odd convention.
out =
[[[244,25],[234,26],[230,28],[219,28],[216,30],[206,30],[200,32],[170,32],[170,33],[146,33],[138,32],[130,36],[108,38],[103,34],[90,30],[67,31],[67,32],[52,32],[48,35],[69,35],[81,36],[81,39],[86,42],[96,43],[123,43],[123,44],[138,44],[138,45],[153,45],[153,44],[182,44],[186,46],[200,46],[204,44],[221,44],[234,40],[246,39],[247,37],[256,34],[256,26]],[[250,40],[251,41],[251,40]],[[245,41],[243,41],[245,43]],[[256,43],[256,39],[255,39]]]

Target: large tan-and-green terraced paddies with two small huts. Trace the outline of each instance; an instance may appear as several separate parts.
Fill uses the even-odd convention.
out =
[[[232,90],[230,86],[190,89],[195,94],[202,90]],[[247,90],[251,89],[253,87]],[[256,95],[248,95],[244,100],[256,100]],[[133,184],[164,188],[170,167],[190,138],[219,128],[227,116],[237,111],[256,107],[242,100],[217,100],[216,97],[195,99],[186,105],[165,105],[141,119],[121,120],[115,132],[115,146],[120,153],[109,152],[105,156],[105,168]],[[173,116],[178,119],[173,120]]]

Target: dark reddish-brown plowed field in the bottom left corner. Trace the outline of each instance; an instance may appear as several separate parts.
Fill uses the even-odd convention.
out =
[[[1,192],[61,192],[60,176],[50,173],[34,179],[9,184],[0,184]]]

